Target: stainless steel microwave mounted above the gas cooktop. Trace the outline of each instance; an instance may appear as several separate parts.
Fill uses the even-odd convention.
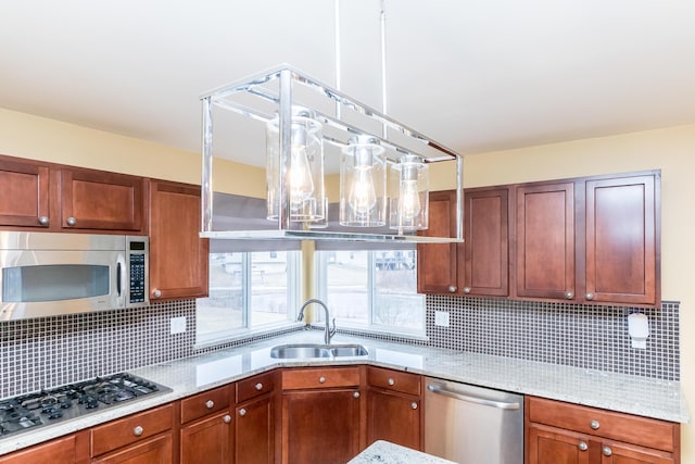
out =
[[[149,304],[148,237],[0,231],[0,321]]]

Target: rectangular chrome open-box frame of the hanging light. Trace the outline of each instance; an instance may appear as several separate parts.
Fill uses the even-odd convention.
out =
[[[274,88],[275,86],[275,88]],[[311,101],[298,101],[296,95],[302,93]],[[240,102],[240,96],[245,100]],[[251,97],[251,98],[249,98]],[[247,103],[253,100],[254,106]],[[327,104],[326,100],[331,104]],[[378,110],[361,103],[341,91],[323,84],[296,68],[281,64],[264,73],[235,81],[201,97],[202,101],[202,208],[201,237],[216,239],[299,239],[299,240],[350,240],[350,241],[407,241],[407,242],[459,242],[463,241],[463,155],[446,148],[442,143],[399,123]],[[314,104],[313,104],[314,103]],[[315,104],[318,103],[318,104]],[[291,161],[291,123],[292,108],[301,105],[312,109],[316,120],[330,127],[338,135],[324,131],[324,143],[333,145],[342,149],[348,140],[355,135],[376,138],[386,149],[387,162],[395,163],[401,155],[417,154],[426,163],[456,161],[456,237],[432,237],[407,235],[403,230],[394,233],[353,233],[327,231],[312,229],[303,225],[298,228],[296,223],[290,221],[290,199],[288,192],[287,174]],[[266,106],[264,110],[263,106]],[[276,111],[268,112],[267,108]],[[324,109],[319,110],[317,106]],[[326,110],[332,108],[333,110]],[[279,117],[280,165],[282,175],[279,176],[280,211],[277,229],[271,230],[213,230],[213,110],[223,109],[244,117],[267,123]],[[345,117],[352,114],[350,122]],[[355,121],[353,121],[355,120]],[[356,122],[356,120],[359,120]],[[378,127],[381,135],[376,134]],[[397,140],[395,140],[397,139]]]

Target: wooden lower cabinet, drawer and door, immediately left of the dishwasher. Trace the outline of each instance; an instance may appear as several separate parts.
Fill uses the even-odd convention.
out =
[[[367,444],[387,440],[421,451],[421,377],[367,367]]]

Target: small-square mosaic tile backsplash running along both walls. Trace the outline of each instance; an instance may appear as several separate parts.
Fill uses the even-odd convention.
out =
[[[434,312],[450,327],[434,326]],[[628,336],[629,308],[427,297],[429,342],[454,350],[679,380],[679,303],[640,310],[649,318],[646,350]],[[169,334],[169,318],[187,330]],[[275,334],[194,349],[195,300],[46,318],[0,322],[0,398],[187,358]],[[402,337],[376,336],[408,342]]]

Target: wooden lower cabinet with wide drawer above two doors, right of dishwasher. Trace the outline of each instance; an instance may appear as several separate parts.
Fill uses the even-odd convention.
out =
[[[527,397],[526,464],[679,464],[680,425]]]

